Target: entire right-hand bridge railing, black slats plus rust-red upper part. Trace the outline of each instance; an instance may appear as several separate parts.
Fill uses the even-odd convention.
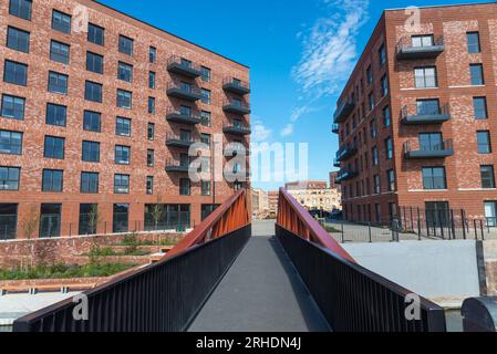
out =
[[[359,266],[283,189],[276,235],[333,331],[446,332],[444,309]]]

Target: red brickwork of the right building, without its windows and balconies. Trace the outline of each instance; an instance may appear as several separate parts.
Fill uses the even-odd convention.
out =
[[[353,101],[354,110],[339,125],[341,147],[355,144],[356,153],[341,162],[342,170],[358,176],[342,180],[343,206],[348,219],[355,221],[390,222],[398,206],[426,208],[426,202],[446,201],[451,209],[465,209],[468,217],[485,218],[485,201],[497,200],[495,188],[483,188],[480,166],[494,165],[495,153],[479,154],[477,132],[489,131],[490,142],[497,142],[493,124],[497,118],[497,4],[466,4],[420,9],[417,28],[406,27],[411,17],[405,10],[386,10],[374,30],[340,101]],[[468,32],[478,32],[480,53],[469,53]],[[412,43],[412,37],[433,35],[434,44],[443,39],[443,51],[432,58],[397,56],[398,48]],[[380,50],[385,48],[385,63],[380,63]],[[484,85],[472,85],[469,65],[483,64]],[[366,83],[366,71],[372,67],[372,84]],[[436,67],[437,85],[418,88],[415,69]],[[382,77],[387,77],[389,93],[382,95]],[[374,108],[367,108],[369,95],[374,94]],[[474,97],[486,97],[488,118],[476,119]],[[418,100],[438,100],[441,110],[447,105],[449,119],[444,123],[406,125],[403,111],[416,114]],[[383,110],[390,108],[391,124],[385,126]],[[355,121],[355,123],[354,123]],[[373,137],[371,126],[377,135]],[[445,158],[410,159],[404,144],[420,147],[421,133],[442,133],[443,140],[452,142],[454,154]],[[387,158],[385,140],[393,142],[393,156]],[[449,146],[449,144],[446,144]],[[379,152],[379,164],[373,166],[373,148]],[[494,149],[495,150],[495,149]],[[423,168],[445,167],[446,188],[425,189]],[[393,190],[389,190],[387,171],[395,174]],[[381,190],[374,190],[374,176],[381,178]],[[393,211],[391,211],[393,210]],[[377,212],[379,211],[379,212]],[[380,215],[377,215],[380,214]]]

